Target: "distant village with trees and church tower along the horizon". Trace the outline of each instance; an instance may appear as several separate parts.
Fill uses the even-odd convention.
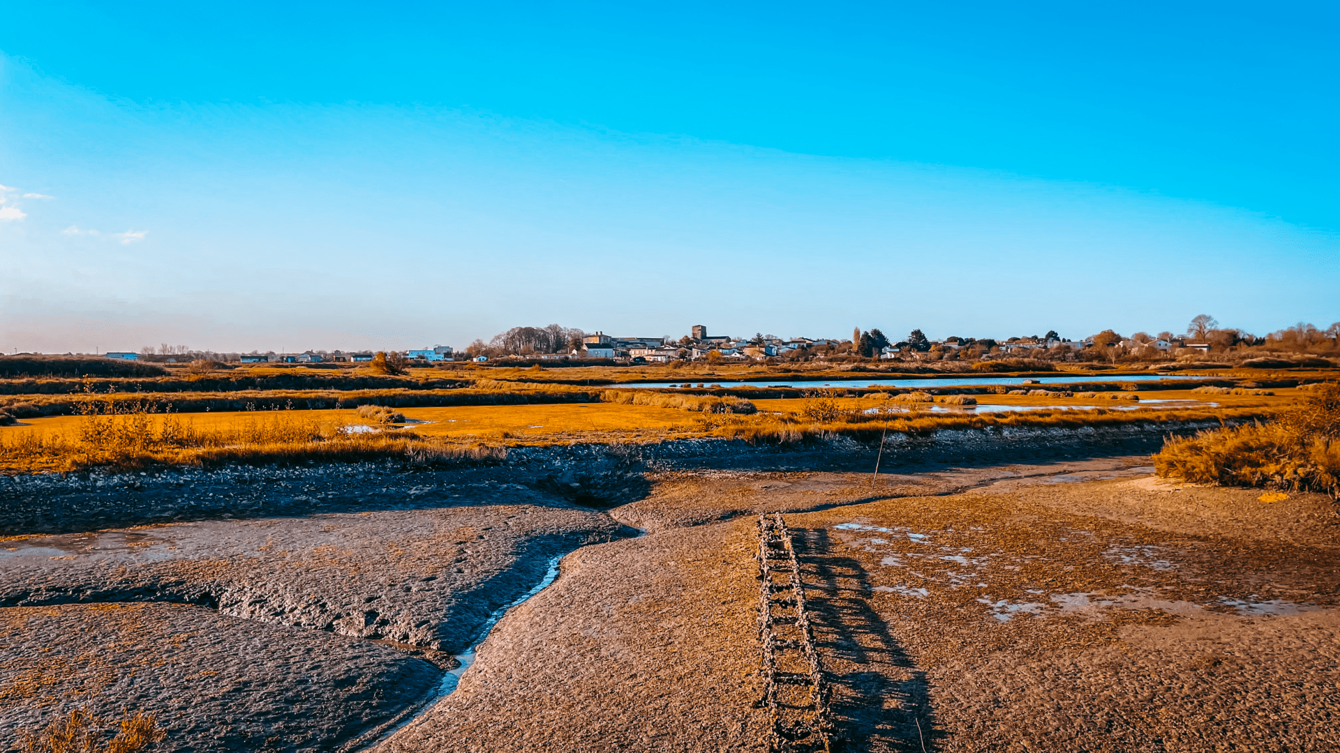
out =
[[[1309,350],[1333,348],[1340,340],[1340,324],[1320,331],[1311,324],[1298,324],[1273,332],[1265,338],[1240,330],[1219,328],[1213,318],[1201,315],[1191,320],[1186,335],[1136,332],[1123,336],[1107,330],[1080,340],[1061,338],[1056,331],[1045,335],[1013,336],[1005,340],[990,338],[930,339],[921,330],[906,338],[891,340],[879,330],[855,330],[851,339],[777,338],[756,334],[750,338],[716,335],[704,324],[695,324],[689,334],[673,336],[611,336],[604,332],[587,334],[557,324],[548,327],[513,327],[496,335],[490,342],[474,340],[464,350],[436,344],[418,350],[399,351],[409,362],[603,362],[603,363],[670,363],[683,360],[709,362],[769,362],[785,360],[992,360],[1002,358],[1032,358],[1045,360],[1118,360],[1185,356],[1233,350]],[[106,352],[106,358],[155,363],[178,363],[212,359],[233,363],[360,363],[371,362],[377,354],[367,351],[249,352],[217,354],[194,351],[185,346],[161,344],[138,352]]]

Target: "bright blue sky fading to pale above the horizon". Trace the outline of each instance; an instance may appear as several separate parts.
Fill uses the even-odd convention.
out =
[[[272,5],[7,8],[0,348],[1340,319],[1333,5]]]

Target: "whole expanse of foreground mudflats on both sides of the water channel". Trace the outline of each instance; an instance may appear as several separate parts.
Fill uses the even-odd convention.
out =
[[[762,750],[753,515],[780,509],[847,750],[1340,748],[1331,500],[1147,462],[659,472],[608,515],[500,497],[8,540],[0,726],[86,701],[158,713],[173,750],[368,741],[441,677],[425,658],[572,551],[377,750]],[[121,603],[67,603],[98,600]]]

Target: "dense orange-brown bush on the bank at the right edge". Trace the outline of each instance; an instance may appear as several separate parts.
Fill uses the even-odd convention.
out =
[[[1340,383],[1305,393],[1269,422],[1170,438],[1154,456],[1160,476],[1201,484],[1317,490],[1340,497]]]

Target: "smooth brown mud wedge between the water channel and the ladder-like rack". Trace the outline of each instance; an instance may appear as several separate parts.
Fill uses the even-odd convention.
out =
[[[754,543],[679,529],[586,547],[379,752],[761,750]]]

